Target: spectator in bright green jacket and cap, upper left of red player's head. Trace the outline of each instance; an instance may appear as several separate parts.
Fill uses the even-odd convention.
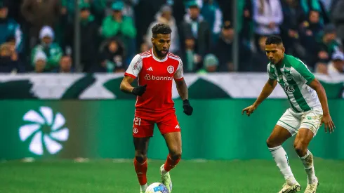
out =
[[[106,39],[120,39],[128,53],[127,57],[131,58],[135,53],[136,29],[133,19],[123,15],[123,8],[123,1],[115,1],[112,4],[112,15],[107,16],[102,22],[102,36]]]

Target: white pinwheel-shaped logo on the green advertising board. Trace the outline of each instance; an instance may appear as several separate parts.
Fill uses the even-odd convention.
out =
[[[60,112],[54,114],[51,107],[29,110],[22,120],[27,124],[19,128],[20,140],[29,140],[29,151],[34,154],[57,154],[63,148],[62,142],[68,139],[65,117]]]

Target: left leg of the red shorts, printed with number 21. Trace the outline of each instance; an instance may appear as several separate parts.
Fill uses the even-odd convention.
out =
[[[133,121],[133,137],[134,138],[150,138],[153,136],[154,122],[147,121],[141,117],[134,117]]]

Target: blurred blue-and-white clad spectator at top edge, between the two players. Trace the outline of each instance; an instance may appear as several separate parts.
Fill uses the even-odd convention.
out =
[[[218,40],[218,36],[220,35],[221,27],[223,25],[222,11],[216,0],[203,0],[199,2],[202,3],[199,5],[201,8],[201,15],[204,17],[204,20],[208,22],[209,27],[211,28],[211,42],[214,43]]]

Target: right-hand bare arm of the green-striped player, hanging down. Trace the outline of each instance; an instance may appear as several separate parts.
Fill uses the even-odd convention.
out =
[[[322,124],[325,124],[325,132],[327,133],[327,131],[329,131],[329,133],[332,133],[335,126],[330,116],[329,105],[327,104],[327,97],[326,97],[325,89],[317,79],[314,79],[310,83],[310,87],[313,88],[317,92],[320,103],[322,104],[322,111],[323,111]]]

